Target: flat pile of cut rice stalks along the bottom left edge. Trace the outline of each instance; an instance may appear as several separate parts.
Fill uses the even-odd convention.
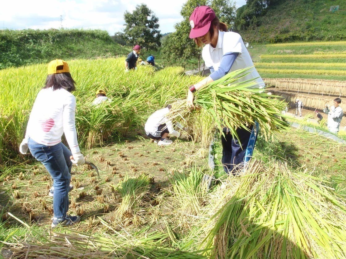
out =
[[[53,232],[47,238],[37,237],[32,243],[7,243],[11,245],[11,258],[157,258],[206,259],[203,251],[188,252],[162,246],[166,234],[152,232],[147,237],[91,236],[67,230]],[[36,243],[35,243],[36,242]]]

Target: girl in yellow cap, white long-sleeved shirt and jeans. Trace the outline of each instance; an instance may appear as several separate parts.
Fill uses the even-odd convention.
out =
[[[75,81],[69,65],[56,59],[48,64],[46,85],[37,94],[30,113],[26,134],[19,151],[31,154],[46,167],[53,178],[52,228],[70,226],[80,217],[69,216],[69,190],[72,164],[84,164],[75,127],[76,99],[72,91]],[[65,134],[71,151],[61,142]]]

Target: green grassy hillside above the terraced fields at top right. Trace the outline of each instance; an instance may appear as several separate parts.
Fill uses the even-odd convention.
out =
[[[330,12],[331,6],[339,10]],[[239,30],[252,42],[346,39],[344,0],[280,0],[257,17],[257,26]]]

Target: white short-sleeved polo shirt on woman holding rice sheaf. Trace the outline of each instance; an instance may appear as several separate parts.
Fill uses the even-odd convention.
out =
[[[210,44],[204,46],[202,50],[202,57],[204,63],[206,63],[206,66],[213,67],[216,71],[220,66],[222,56],[228,52],[239,53],[229,72],[246,67],[252,67],[254,65],[250,54],[244,45],[242,37],[233,31],[219,31],[216,47],[213,48]],[[261,88],[264,87],[264,82],[257,70],[253,67],[250,71],[251,73],[244,76],[240,80],[245,81],[258,77],[255,79],[258,82],[258,86]]]

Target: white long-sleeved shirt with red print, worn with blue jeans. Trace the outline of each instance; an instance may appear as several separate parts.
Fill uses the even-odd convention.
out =
[[[40,90],[30,113],[25,138],[54,146],[61,142],[61,136],[65,133],[71,152],[80,152],[75,111],[76,99],[70,92],[63,88],[53,91],[52,87]]]

